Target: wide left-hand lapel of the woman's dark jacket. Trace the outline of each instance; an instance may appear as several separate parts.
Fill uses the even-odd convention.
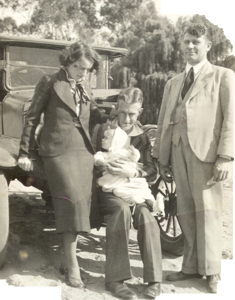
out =
[[[75,114],[76,113],[76,106],[74,103],[73,95],[71,93],[71,86],[66,79],[66,73],[64,70],[60,70],[58,73],[59,79],[54,84],[54,90],[56,94],[60,97],[60,99],[69,107],[71,108]]]

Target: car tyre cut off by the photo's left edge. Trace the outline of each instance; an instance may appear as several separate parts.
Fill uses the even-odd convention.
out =
[[[9,203],[8,181],[6,174],[0,169],[0,268],[3,266],[8,246]]]

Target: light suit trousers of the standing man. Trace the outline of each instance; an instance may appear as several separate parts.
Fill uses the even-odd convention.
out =
[[[220,272],[222,244],[222,182],[213,181],[214,163],[200,161],[190,145],[172,143],[171,166],[177,210],[185,234],[182,271]]]

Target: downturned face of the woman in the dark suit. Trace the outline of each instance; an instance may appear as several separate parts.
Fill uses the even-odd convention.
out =
[[[85,57],[81,57],[79,61],[76,61],[66,67],[68,76],[74,79],[76,82],[84,80],[86,74],[90,71],[93,64],[94,62]]]

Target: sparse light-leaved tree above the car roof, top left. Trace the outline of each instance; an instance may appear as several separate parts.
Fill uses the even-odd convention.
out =
[[[95,0],[6,0],[0,1],[0,7],[11,7],[25,17],[26,24],[19,26],[18,34],[92,42],[100,28]]]

